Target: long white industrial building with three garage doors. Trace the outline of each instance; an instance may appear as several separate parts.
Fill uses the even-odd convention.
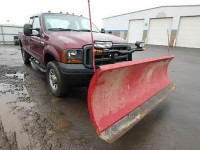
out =
[[[103,18],[103,28],[128,42],[200,48],[200,5],[161,6]]]

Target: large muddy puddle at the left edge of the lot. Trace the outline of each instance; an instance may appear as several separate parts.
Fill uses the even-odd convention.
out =
[[[24,74],[6,74],[7,82],[16,79],[24,80]],[[11,82],[12,83],[12,82]],[[16,90],[15,84],[22,90]],[[16,141],[18,149],[22,150],[29,147],[30,138],[29,135],[23,130],[23,120],[19,118],[22,112],[20,109],[30,110],[34,107],[34,103],[26,101],[30,99],[26,88],[23,86],[23,82],[16,81],[13,84],[0,83],[0,120],[2,121],[4,131],[9,137],[10,134],[16,134]],[[12,141],[11,141],[12,142]]]

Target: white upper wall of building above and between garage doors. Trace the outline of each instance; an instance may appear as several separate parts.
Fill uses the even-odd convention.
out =
[[[172,30],[177,30],[181,16],[200,15],[200,5],[197,6],[164,6],[143,11],[137,11],[119,16],[113,16],[103,19],[103,28],[105,30],[128,30],[129,20],[144,19],[148,30],[150,18],[173,17]]]

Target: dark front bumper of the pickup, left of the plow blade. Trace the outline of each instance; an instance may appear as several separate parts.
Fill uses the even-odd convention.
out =
[[[72,87],[88,86],[94,74],[92,69],[87,69],[83,64],[64,64],[58,62],[64,82]]]

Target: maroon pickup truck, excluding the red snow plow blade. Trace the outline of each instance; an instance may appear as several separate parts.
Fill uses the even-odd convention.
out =
[[[134,51],[143,50],[143,42],[131,49],[125,40],[105,34],[93,25],[95,64],[131,61]],[[22,58],[46,72],[55,96],[63,96],[69,87],[87,86],[94,74],[89,19],[61,13],[40,13],[30,17],[19,35]]]

